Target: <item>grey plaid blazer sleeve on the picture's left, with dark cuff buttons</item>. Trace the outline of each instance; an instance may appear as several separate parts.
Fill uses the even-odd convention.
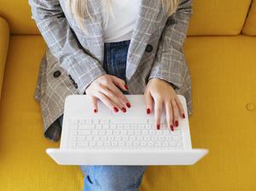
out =
[[[106,71],[99,61],[86,54],[76,39],[59,0],[29,0],[28,3],[32,8],[32,19],[49,50],[78,84],[79,94],[84,94],[89,84]]]

